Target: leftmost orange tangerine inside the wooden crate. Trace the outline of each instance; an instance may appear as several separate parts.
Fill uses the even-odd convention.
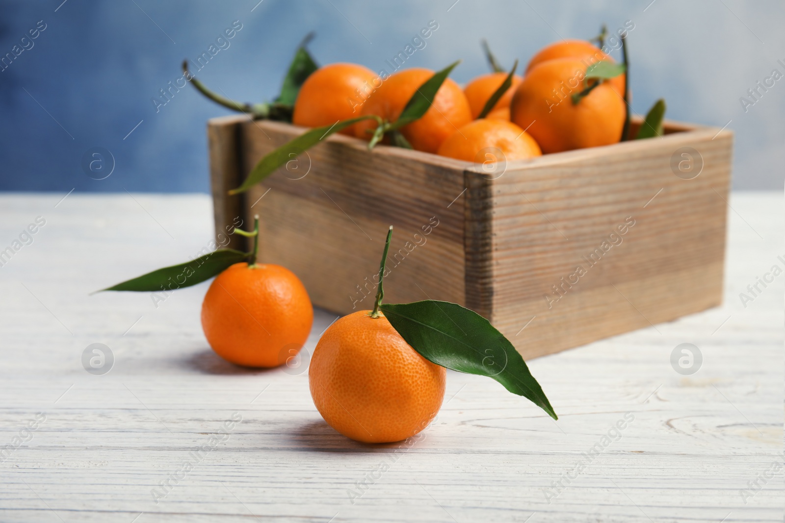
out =
[[[292,123],[302,127],[333,125],[360,116],[360,108],[378,76],[357,64],[330,64],[313,71],[294,101]],[[352,136],[351,127],[341,133]]]

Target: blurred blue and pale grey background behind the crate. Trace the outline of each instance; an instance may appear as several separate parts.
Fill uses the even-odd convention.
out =
[[[378,71],[436,20],[439,29],[407,65],[436,69],[462,58],[452,76],[467,82],[487,72],[481,38],[503,64],[525,64],[550,42],[591,38],[603,22],[613,31],[632,20],[633,110],[644,113],[664,96],[668,118],[731,121],[734,187],[783,187],[785,79],[747,112],[739,102],[773,68],[785,73],[777,64],[785,63],[783,2],[61,2],[2,2],[0,55],[38,20],[47,27],[0,72],[0,190],[206,192],[205,123],[229,111],[190,85],[158,112],[151,99],[233,20],[243,29],[198,77],[243,101],[276,96],[295,46],[312,30],[319,64]],[[90,147],[115,157],[105,180],[82,171]]]

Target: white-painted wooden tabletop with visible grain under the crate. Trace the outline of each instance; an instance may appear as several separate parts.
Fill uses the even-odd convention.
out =
[[[374,446],[323,422],[307,372],[217,358],[206,283],[88,296],[195,256],[206,196],[62,197],[0,195],[0,249],[46,220],[0,267],[0,521],[782,521],[785,275],[739,300],[785,265],[782,194],[732,195],[723,307],[530,362],[558,422],[450,372],[422,438]]]

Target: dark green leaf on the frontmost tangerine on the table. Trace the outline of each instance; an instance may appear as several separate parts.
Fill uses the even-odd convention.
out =
[[[435,300],[383,304],[382,312],[423,358],[458,372],[489,376],[558,419],[524,358],[480,314]]]

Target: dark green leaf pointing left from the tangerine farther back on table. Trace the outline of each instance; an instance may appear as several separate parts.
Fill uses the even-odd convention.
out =
[[[156,292],[182,289],[213,278],[235,263],[246,261],[248,256],[248,252],[235,251],[235,249],[217,249],[187,263],[163,267],[101,291]]]

